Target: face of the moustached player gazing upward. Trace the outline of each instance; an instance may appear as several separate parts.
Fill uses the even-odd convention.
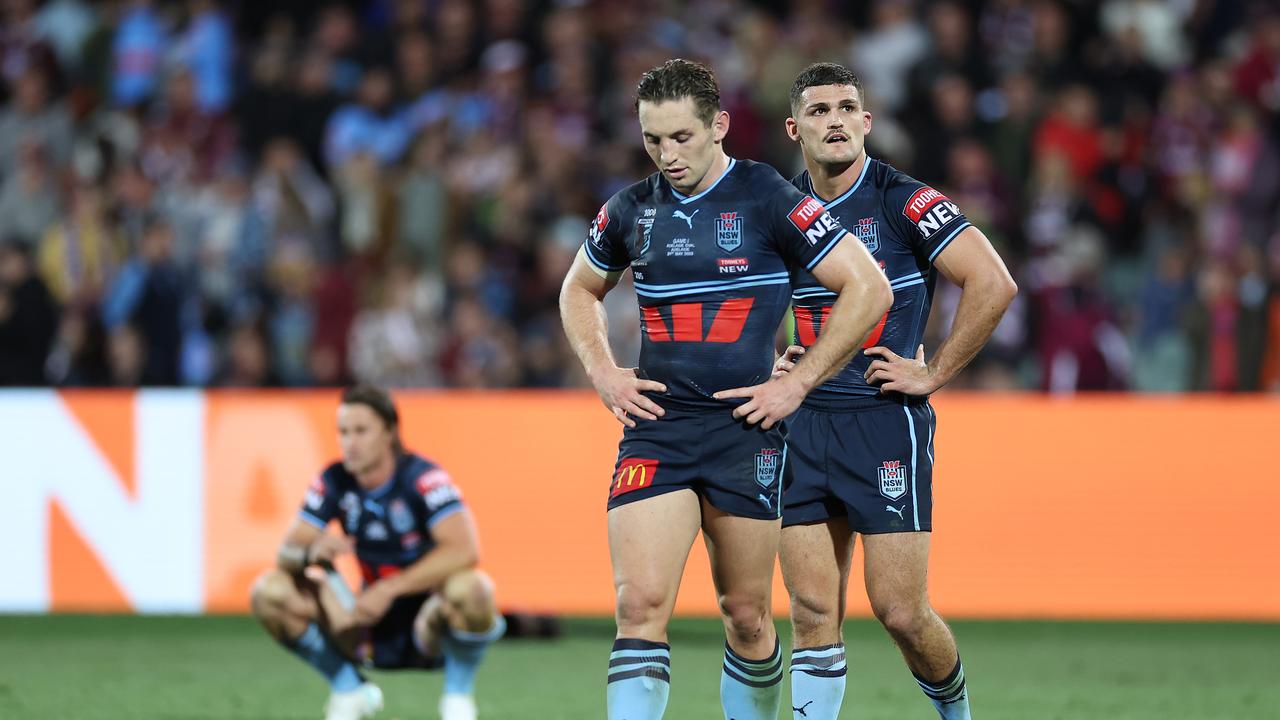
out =
[[[872,114],[851,85],[819,85],[800,95],[787,135],[800,143],[806,160],[823,165],[851,164],[863,154]]]

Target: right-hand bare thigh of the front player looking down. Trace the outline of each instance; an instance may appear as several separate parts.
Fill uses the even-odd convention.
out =
[[[703,500],[703,539],[721,603],[768,605],[781,520],[731,515]]]

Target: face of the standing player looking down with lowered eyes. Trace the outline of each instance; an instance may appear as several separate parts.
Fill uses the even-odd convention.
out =
[[[644,149],[672,187],[695,195],[710,184],[707,172],[728,132],[728,113],[721,110],[708,127],[698,118],[692,97],[640,102]]]

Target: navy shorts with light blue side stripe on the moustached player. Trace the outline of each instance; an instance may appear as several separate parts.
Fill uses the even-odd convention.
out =
[[[928,400],[801,407],[787,420],[794,479],[782,525],[847,516],[864,534],[932,530],[934,427]]]

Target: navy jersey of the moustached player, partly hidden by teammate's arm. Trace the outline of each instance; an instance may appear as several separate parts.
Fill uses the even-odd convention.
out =
[[[791,182],[797,190],[813,193],[808,170]],[[904,357],[915,357],[933,304],[937,279],[933,261],[970,225],[969,220],[955,202],[937,190],[869,156],[854,186],[824,202],[844,227],[863,241],[893,288],[893,305],[872,329],[863,347],[884,346]],[[809,273],[792,273],[791,284],[795,340],[808,347],[822,332],[836,296]],[[863,379],[872,360],[874,357],[858,352],[849,365],[809,393],[805,401],[810,406],[838,407],[842,404],[865,405],[868,397],[884,398],[879,389]]]

